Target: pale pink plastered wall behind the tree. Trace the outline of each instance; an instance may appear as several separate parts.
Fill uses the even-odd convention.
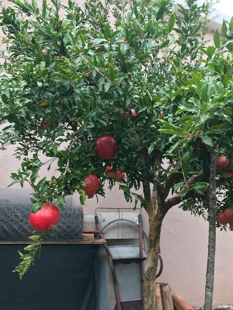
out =
[[[212,37],[212,33],[209,34]],[[0,150],[0,188],[11,183],[10,174],[17,171],[20,162],[12,156],[15,146]],[[50,172],[53,175],[55,166]],[[41,176],[48,175],[46,167]],[[15,184],[12,188],[20,188]],[[25,188],[30,188],[25,183]],[[140,190],[138,193],[142,193]],[[78,194],[74,194],[73,204],[79,204]],[[84,212],[93,212],[97,207],[133,208],[126,203],[123,192],[116,186],[112,191],[106,188],[106,197],[88,199]],[[148,218],[143,211],[144,229],[148,231]],[[208,251],[208,223],[202,218],[191,216],[177,206],[167,214],[162,225],[161,255],[164,269],[158,282],[167,282],[173,294],[181,295],[193,306],[204,303],[205,274]],[[216,267],[213,304],[233,303],[233,232],[217,230]]]

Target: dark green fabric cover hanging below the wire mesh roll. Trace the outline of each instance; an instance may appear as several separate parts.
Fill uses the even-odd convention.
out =
[[[43,244],[21,281],[12,270],[23,244],[0,245],[1,310],[95,310],[98,245]]]

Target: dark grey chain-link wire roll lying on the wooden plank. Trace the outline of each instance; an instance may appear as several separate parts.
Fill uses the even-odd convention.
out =
[[[29,224],[31,204],[0,203],[0,240],[29,240],[33,229]],[[83,210],[80,206],[65,206],[61,219],[52,229],[52,237],[47,240],[81,240],[83,229]]]

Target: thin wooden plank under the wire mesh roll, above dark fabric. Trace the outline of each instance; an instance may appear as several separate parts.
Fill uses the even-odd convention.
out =
[[[32,244],[33,241],[0,241],[1,244]],[[42,241],[42,244],[105,244],[105,239],[94,239],[93,241],[80,241],[80,240],[51,240]]]

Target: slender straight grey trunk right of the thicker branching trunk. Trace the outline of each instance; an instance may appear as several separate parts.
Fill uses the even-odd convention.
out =
[[[216,245],[216,143],[210,152],[209,174],[209,241],[204,310],[212,309]]]

